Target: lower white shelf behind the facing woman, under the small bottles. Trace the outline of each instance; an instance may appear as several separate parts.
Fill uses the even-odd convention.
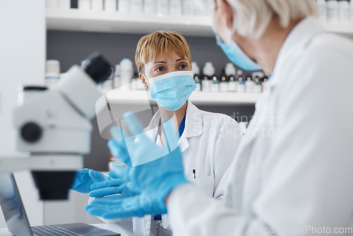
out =
[[[145,90],[102,90],[109,102],[140,105],[148,103]],[[254,105],[261,93],[205,93],[195,91],[190,100],[195,105]]]

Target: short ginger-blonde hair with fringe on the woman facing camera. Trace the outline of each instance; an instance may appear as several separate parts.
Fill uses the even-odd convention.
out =
[[[145,73],[145,64],[172,51],[188,59],[191,64],[189,45],[182,35],[172,31],[156,31],[141,37],[135,54],[138,73]]]

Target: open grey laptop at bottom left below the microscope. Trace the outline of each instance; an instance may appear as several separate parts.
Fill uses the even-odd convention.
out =
[[[42,225],[30,227],[20,192],[13,174],[0,175],[0,205],[4,213],[8,231],[19,236],[44,235],[84,235],[84,236],[120,236],[116,232],[97,228],[85,223],[62,225]]]

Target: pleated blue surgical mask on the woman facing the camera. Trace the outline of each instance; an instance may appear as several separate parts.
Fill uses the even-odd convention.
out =
[[[196,83],[192,71],[174,71],[148,79],[151,98],[169,111],[179,110],[189,99]]]

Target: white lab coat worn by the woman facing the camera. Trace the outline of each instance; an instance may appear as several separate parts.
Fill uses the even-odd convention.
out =
[[[156,140],[160,112],[156,112],[145,134]],[[199,110],[188,101],[184,132],[179,138],[179,148],[183,153],[184,171],[190,180],[208,198],[222,199],[226,183],[221,183],[223,175],[232,163],[242,131],[237,122],[225,114]],[[157,136],[157,144],[160,137]],[[196,170],[194,178],[193,170]],[[156,235],[156,225],[152,216],[133,218],[133,235]],[[112,220],[105,220],[112,223]],[[118,223],[131,227],[131,220],[118,220]],[[160,236],[172,235],[169,217],[162,216]],[[168,230],[165,230],[167,228]]]

